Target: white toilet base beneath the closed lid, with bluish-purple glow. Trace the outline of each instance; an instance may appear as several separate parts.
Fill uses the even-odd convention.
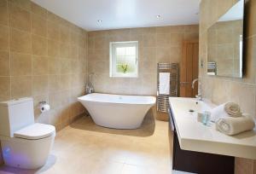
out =
[[[53,147],[55,134],[38,140],[1,137],[5,165],[22,169],[42,167]]]

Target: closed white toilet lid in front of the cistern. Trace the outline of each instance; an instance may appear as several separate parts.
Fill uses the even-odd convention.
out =
[[[51,136],[54,133],[55,126],[36,123],[33,125],[28,125],[19,131],[15,131],[14,136],[29,140],[38,140],[44,137]]]

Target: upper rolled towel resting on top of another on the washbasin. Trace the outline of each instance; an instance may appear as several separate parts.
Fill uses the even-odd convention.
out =
[[[219,118],[223,117],[241,117],[241,109],[239,105],[234,102],[227,102],[212,109],[212,122],[216,122]]]

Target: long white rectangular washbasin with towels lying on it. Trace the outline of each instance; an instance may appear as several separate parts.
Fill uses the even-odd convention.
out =
[[[183,97],[170,97],[169,102],[178,142],[183,150],[256,159],[255,129],[227,136],[217,131],[214,123],[203,125],[197,121],[197,113],[210,111],[214,104]]]

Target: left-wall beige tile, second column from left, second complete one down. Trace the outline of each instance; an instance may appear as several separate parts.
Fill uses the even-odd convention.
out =
[[[32,53],[32,36],[30,32],[11,29],[10,32],[10,49],[11,51],[21,53]]]

